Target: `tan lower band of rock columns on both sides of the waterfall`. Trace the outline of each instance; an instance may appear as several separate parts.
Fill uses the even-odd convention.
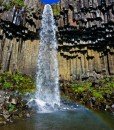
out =
[[[0,71],[19,71],[35,75],[39,41],[16,41],[5,39],[0,41]],[[108,52],[91,48],[77,48],[72,57],[65,58],[58,52],[59,74],[61,79],[75,80],[87,78],[96,72],[100,75],[114,75],[114,47],[108,47]],[[69,55],[69,52],[66,52]]]

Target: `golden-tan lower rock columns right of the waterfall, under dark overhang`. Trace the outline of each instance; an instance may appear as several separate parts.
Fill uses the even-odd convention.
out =
[[[114,75],[114,47],[107,47],[107,52],[83,47],[77,52],[69,54],[67,58],[59,52],[59,72],[62,79],[81,80],[95,75]],[[68,58],[69,56],[69,58]]]

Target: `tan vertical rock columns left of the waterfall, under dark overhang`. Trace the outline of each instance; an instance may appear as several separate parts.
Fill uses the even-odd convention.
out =
[[[0,42],[1,72],[22,72],[35,75],[38,58],[39,41],[27,40],[25,42],[16,39],[5,39]]]

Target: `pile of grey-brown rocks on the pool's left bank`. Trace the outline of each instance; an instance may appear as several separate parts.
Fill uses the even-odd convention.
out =
[[[15,119],[30,117],[30,110],[22,95],[12,91],[0,91],[0,126]]]

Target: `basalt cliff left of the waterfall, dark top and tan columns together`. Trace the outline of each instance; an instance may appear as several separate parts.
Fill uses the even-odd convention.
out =
[[[35,74],[38,56],[40,9],[1,10],[0,70]],[[25,69],[26,68],[26,69]]]

